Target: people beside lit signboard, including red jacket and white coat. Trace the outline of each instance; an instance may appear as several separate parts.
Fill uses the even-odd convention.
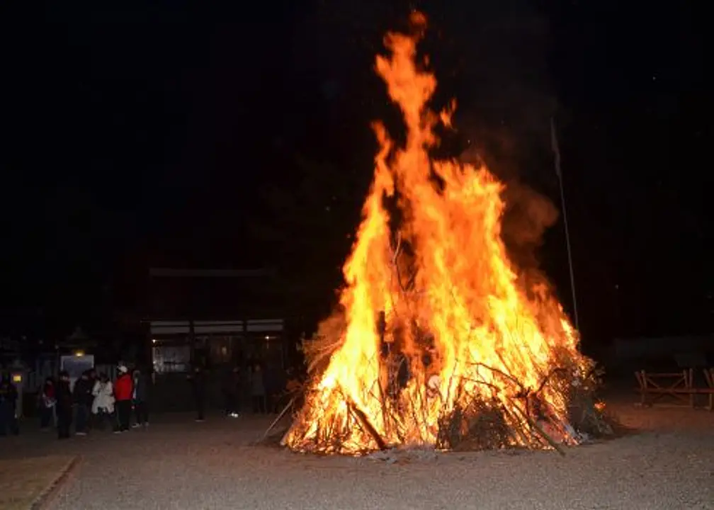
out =
[[[55,382],[45,380],[39,395],[40,427],[49,430],[55,421],[59,439],[74,434],[84,436],[94,428],[109,424],[115,434],[129,431],[131,411],[136,418],[134,427],[149,426],[149,404],[146,376],[139,369],[131,373],[124,365],[116,369],[116,381],[112,384],[106,374],[96,374],[94,369],[84,371],[70,386],[69,373],[61,371]]]

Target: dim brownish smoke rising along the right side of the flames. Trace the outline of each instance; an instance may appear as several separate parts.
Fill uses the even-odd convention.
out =
[[[506,183],[503,241],[526,279],[544,281],[538,249],[559,216],[544,194],[557,184],[550,117],[558,100],[548,68],[548,21],[522,0],[472,2],[467,11],[448,5],[439,19],[444,35],[427,51],[441,94],[458,99],[456,152],[461,161],[486,164]]]

